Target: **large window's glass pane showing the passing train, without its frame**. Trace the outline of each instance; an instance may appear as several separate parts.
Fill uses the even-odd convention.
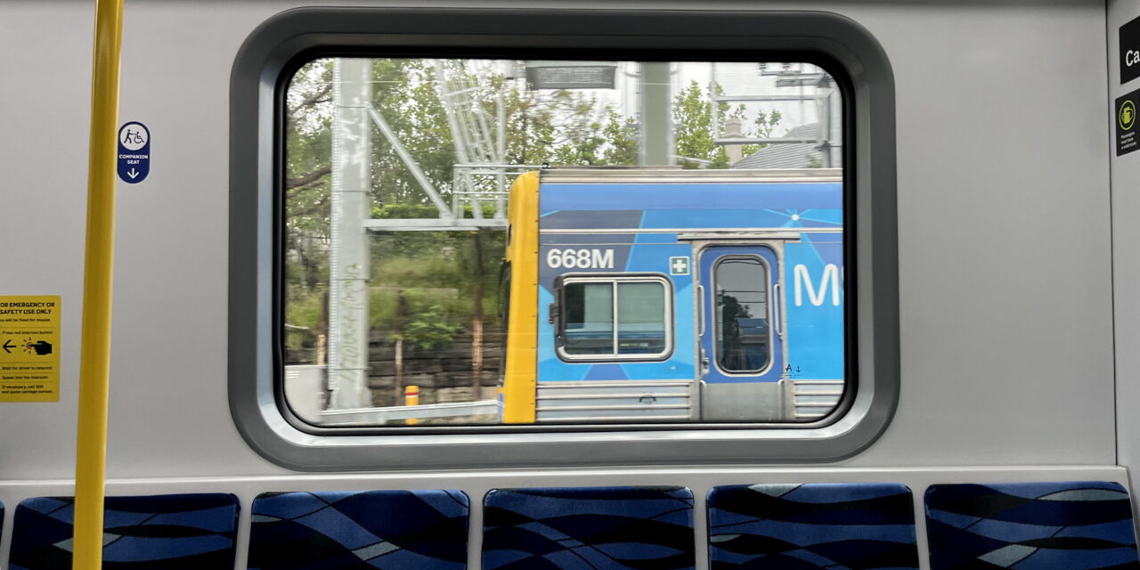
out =
[[[306,422],[805,423],[850,385],[823,67],[319,57],[282,113]]]

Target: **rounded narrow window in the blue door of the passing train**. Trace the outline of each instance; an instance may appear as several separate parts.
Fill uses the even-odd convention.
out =
[[[771,359],[768,269],[755,256],[727,256],[714,267],[716,364],[730,374],[760,372]]]

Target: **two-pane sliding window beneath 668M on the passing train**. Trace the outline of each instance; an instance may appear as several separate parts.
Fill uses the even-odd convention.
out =
[[[663,278],[569,278],[562,284],[559,355],[565,360],[656,359],[669,351]]]

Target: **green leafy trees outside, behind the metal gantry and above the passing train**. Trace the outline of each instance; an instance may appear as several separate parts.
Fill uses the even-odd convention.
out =
[[[457,62],[439,65],[446,66],[453,79],[472,85],[470,97],[489,116],[496,116],[497,105],[503,105],[508,164],[637,162],[636,117],[622,115],[589,91],[536,91],[500,73],[480,73]],[[373,59],[370,72],[372,105],[415,157],[424,177],[450,203],[453,169],[463,160],[456,155],[437,62]],[[312,352],[318,334],[327,329],[332,80],[333,60],[314,60],[295,74],[285,101],[285,319],[300,327],[286,335],[286,345],[298,353]],[[719,87],[714,89],[722,93]],[[705,161],[706,168],[728,168],[724,148],[712,140],[711,105],[709,92],[695,82],[676,95],[673,120],[677,154]],[[743,106],[717,105],[718,131],[726,121],[746,117]],[[767,137],[779,121],[779,113],[760,113],[747,130],[751,136]],[[372,138],[370,166],[374,219],[439,217],[397,148],[378,133]],[[466,206],[464,217],[473,213]],[[494,213],[492,207],[482,212],[484,217]],[[451,342],[473,318],[481,319],[488,329],[497,326],[499,311],[492,306],[497,286],[484,282],[499,274],[504,233],[374,231],[370,241],[368,296],[374,332],[388,341],[400,339],[431,349]]]

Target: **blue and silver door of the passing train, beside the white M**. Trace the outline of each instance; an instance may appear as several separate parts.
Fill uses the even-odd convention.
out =
[[[710,245],[699,259],[701,418],[782,420],[787,357],[776,252]]]

